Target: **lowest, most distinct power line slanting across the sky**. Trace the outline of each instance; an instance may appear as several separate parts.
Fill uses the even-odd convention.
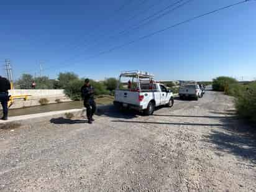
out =
[[[249,2],[249,1],[252,1],[252,0],[240,1],[240,2],[237,2],[237,3],[235,3],[235,4],[230,4],[230,5],[228,5],[228,6],[224,6],[224,7],[221,7],[221,8],[219,8],[219,9],[215,9],[214,11],[206,12],[206,13],[201,14],[201,15],[199,15],[199,16],[191,17],[190,19],[186,19],[185,21],[181,21],[181,22],[178,22],[178,23],[176,23],[176,24],[173,24],[173,25],[170,25],[170,26],[168,26],[168,27],[165,27],[165,28],[163,28],[163,29],[156,30],[155,32],[152,32],[152,33],[150,33],[150,34],[147,34],[147,35],[144,35],[144,36],[142,36],[142,37],[139,37],[138,39],[131,40],[130,42],[123,43],[123,44],[121,44],[121,45],[117,45],[117,46],[112,47],[112,48],[109,48],[108,50],[105,50],[105,51],[103,51],[103,52],[99,52],[98,54],[93,55],[93,56],[91,56],[91,57],[88,57],[88,58],[86,58],[85,60],[90,60],[90,59],[92,59],[92,58],[98,57],[99,55],[104,55],[104,54],[106,54],[106,53],[112,52],[112,51],[117,50],[117,49],[119,49],[119,48],[125,47],[126,45],[130,45],[130,44],[135,43],[135,42],[138,42],[138,41],[140,41],[140,40],[147,39],[147,38],[149,38],[149,37],[151,37],[151,36],[153,36],[153,35],[160,34],[160,33],[164,32],[165,30],[172,29],[172,28],[177,27],[177,26],[179,26],[179,25],[186,24],[186,23],[188,23],[188,22],[194,21],[194,20],[199,19],[199,18],[201,18],[201,17],[208,16],[208,15],[210,15],[210,14],[214,14],[215,12],[219,12],[219,11],[222,11],[222,10],[224,10],[224,9],[229,9],[229,8],[231,8],[231,7],[234,7],[234,6],[237,6],[237,5],[239,5],[239,4],[243,4],[243,3],[245,3],[245,2]],[[73,65],[75,65],[75,64],[73,64]],[[62,66],[68,66],[68,65],[62,65]],[[53,68],[53,67],[52,67],[52,68]],[[45,70],[49,70],[49,69],[50,69],[50,68],[45,68]]]

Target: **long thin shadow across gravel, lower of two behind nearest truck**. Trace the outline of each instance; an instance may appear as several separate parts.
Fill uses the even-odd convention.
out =
[[[160,125],[174,125],[174,126],[225,126],[223,124],[201,124],[201,123],[187,123],[187,122],[149,122],[149,121],[121,121],[113,120],[112,122],[131,122],[139,124],[160,124]]]

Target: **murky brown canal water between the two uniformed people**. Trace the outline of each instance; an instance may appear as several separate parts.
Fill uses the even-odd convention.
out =
[[[21,109],[9,109],[9,116],[23,116],[28,114],[36,114],[40,112],[80,109],[82,107],[83,107],[83,101],[54,103],[54,104],[47,104],[44,106],[25,107]]]

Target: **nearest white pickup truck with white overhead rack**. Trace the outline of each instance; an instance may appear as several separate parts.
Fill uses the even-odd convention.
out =
[[[122,78],[129,81],[122,81]],[[173,103],[173,93],[164,85],[153,81],[153,75],[141,71],[126,71],[119,76],[114,99],[116,106],[136,109],[146,115],[152,115],[155,107],[171,107]]]

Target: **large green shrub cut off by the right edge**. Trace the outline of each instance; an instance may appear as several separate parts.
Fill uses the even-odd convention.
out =
[[[240,117],[256,124],[256,83],[248,85],[244,94],[235,100],[235,107]]]

